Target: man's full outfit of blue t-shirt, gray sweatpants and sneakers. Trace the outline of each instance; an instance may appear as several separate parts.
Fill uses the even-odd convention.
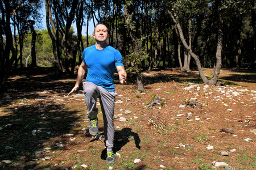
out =
[[[98,109],[96,108],[97,98],[100,99],[101,111],[104,120],[104,135],[107,152],[112,154],[106,158],[107,163],[115,161],[112,148],[114,146],[114,104],[117,93],[114,88],[115,67],[123,66],[122,56],[112,46],[106,46],[102,50],[96,46],[90,46],[82,53],[82,61],[88,66],[86,82],[82,83],[84,88],[84,100],[88,108],[87,118],[95,120]],[[92,125],[91,125],[92,124]],[[96,122],[91,121],[91,134],[96,134],[98,128]]]

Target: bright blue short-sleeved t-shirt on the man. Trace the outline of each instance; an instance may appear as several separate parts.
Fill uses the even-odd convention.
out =
[[[98,50],[95,45],[82,52],[82,61],[88,66],[86,81],[115,92],[115,67],[123,66],[121,53],[112,46]]]

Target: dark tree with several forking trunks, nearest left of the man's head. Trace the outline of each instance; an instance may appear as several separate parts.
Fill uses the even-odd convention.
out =
[[[45,0],[47,30],[52,39],[53,54],[60,74],[73,74],[69,70],[69,57],[73,60],[73,57],[76,57],[76,55],[73,56],[76,52],[74,52],[74,48],[71,46],[72,43],[69,31],[75,18],[78,3],[78,0],[64,2]],[[55,20],[53,20],[53,16],[55,17]],[[64,64],[62,56],[64,56]],[[72,65],[72,67],[75,66]]]

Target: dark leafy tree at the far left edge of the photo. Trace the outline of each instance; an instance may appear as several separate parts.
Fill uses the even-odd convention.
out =
[[[6,82],[11,70],[13,69],[14,62],[17,61],[18,59],[16,31],[17,30],[20,31],[20,29],[17,23],[26,25],[27,19],[36,19],[39,16],[38,8],[40,8],[40,0],[29,0],[29,1],[28,0],[21,0],[21,1],[4,0],[0,2],[0,11],[1,11],[0,88],[3,86],[3,83]],[[27,14],[27,15],[24,16],[24,15],[18,15],[18,14]],[[19,34],[19,36],[20,35],[22,34]],[[23,42],[22,38],[19,40],[20,42]],[[22,46],[20,48],[22,48]],[[22,58],[20,59],[20,61],[22,61]]]

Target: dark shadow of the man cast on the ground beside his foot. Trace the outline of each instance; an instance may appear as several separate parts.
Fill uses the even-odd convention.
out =
[[[115,131],[113,152],[118,152],[130,141],[134,141],[135,147],[141,149],[141,146],[139,146],[141,139],[139,139],[139,135],[137,133],[131,131],[131,128],[123,128],[120,131]],[[101,159],[106,159],[106,148],[101,152]]]

